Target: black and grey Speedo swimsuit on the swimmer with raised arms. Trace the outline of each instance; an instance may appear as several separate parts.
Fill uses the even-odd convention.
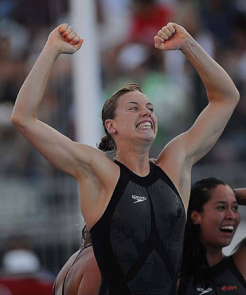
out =
[[[185,208],[172,181],[150,162],[145,177],[123,164],[109,204],[91,228],[100,295],[174,295]]]

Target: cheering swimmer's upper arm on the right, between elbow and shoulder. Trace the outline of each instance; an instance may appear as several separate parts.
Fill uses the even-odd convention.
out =
[[[192,165],[211,150],[226,127],[234,108],[235,104],[232,103],[211,101],[192,127],[181,135],[181,144]]]

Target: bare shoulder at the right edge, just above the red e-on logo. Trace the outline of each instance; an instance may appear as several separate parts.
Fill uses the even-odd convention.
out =
[[[235,247],[232,258],[237,269],[246,280],[246,237]]]

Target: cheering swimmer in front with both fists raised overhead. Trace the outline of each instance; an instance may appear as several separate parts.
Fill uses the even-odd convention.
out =
[[[82,214],[101,271],[101,295],[177,293],[191,167],[215,144],[239,100],[231,78],[183,27],[168,23],[154,40],[158,49],[186,55],[209,100],[194,125],[169,142],[156,159],[149,160],[149,150],[157,118],[136,84],[116,91],[102,109],[106,136],[98,147],[116,150],[114,162],[37,119],[56,58],[82,45],[67,24],[49,35],[12,114],[12,122],[27,140],[78,182]]]

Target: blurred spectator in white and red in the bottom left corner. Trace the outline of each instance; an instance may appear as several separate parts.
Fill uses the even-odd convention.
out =
[[[27,237],[11,237],[6,246],[9,250],[2,258],[0,290],[4,286],[11,295],[50,295],[53,277],[41,272],[39,258],[30,249]]]

